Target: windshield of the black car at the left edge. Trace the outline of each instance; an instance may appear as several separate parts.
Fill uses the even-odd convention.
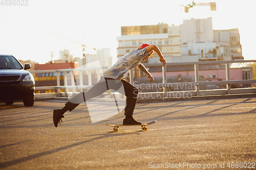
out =
[[[12,56],[0,56],[0,69],[1,68],[22,69],[23,67]]]

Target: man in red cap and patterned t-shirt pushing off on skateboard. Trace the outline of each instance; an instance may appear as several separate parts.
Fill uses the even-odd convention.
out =
[[[163,66],[166,66],[166,60],[157,45],[142,44],[137,50],[124,55],[112,67],[103,72],[99,82],[87,92],[78,93],[65,104],[65,107],[53,110],[54,126],[58,126],[59,121],[64,117],[63,114],[66,111],[69,110],[71,112],[79,104],[86,102],[109,89],[114,89],[126,96],[123,125],[141,125],[140,122],[137,122],[137,120],[133,118],[139,89],[122,78],[127,71],[138,67],[147,75],[147,80],[153,82],[154,78],[151,76],[150,72],[147,71],[145,66],[141,64],[141,61],[148,59],[153,54],[153,51],[157,53]]]

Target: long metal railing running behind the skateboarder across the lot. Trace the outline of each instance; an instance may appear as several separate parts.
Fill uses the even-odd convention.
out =
[[[148,86],[154,87],[157,86],[161,88],[161,91],[155,92],[140,92],[138,95],[139,99],[145,98],[181,98],[181,97],[191,97],[191,96],[201,96],[201,95],[224,95],[224,94],[240,94],[240,93],[256,93],[256,88],[236,88],[231,89],[231,84],[253,84],[256,83],[256,80],[230,80],[230,64],[231,63],[249,63],[249,62],[256,62],[256,60],[231,60],[231,61],[201,61],[201,62],[178,62],[178,63],[167,63],[166,67],[170,67],[173,65],[194,65],[194,72],[195,72],[195,82],[181,82],[181,83],[171,83],[167,82],[166,76],[166,67],[162,67],[161,63],[145,63],[145,67],[148,66],[159,66],[162,67],[162,83],[153,83],[153,84],[134,84],[134,75],[133,70],[130,70],[130,83],[134,84],[139,88],[146,88]],[[226,70],[226,80],[225,81],[199,81],[199,65],[204,64],[225,64]],[[35,94],[35,98],[49,98],[49,97],[56,97],[56,98],[68,98],[73,93],[78,93],[83,89],[90,89],[92,87],[92,71],[97,72],[97,81],[100,79],[100,75],[102,74],[103,70],[108,69],[110,66],[102,66],[102,67],[89,67],[89,68],[75,68],[75,69],[56,69],[56,70],[34,70],[30,71],[32,74],[38,74],[42,72],[56,72],[56,86],[41,86],[35,87],[35,90],[45,90],[45,89],[56,89],[57,92],[53,93],[37,93]],[[87,78],[88,78],[88,85],[84,85],[83,76],[84,71],[87,71]],[[63,86],[60,85],[60,72],[63,72]],[[68,78],[70,77],[70,78]],[[77,83],[75,77],[79,78],[79,83]],[[68,85],[69,79],[71,81],[71,85]],[[200,86],[202,85],[219,85],[223,84],[225,88],[222,89],[211,89],[211,90],[200,90]],[[167,91],[167,88],[170,86],[193,86],[193,90],[182,90],[182,91]],[[64,92],[61,92],[61,89]],[[63,91],[62,90],[62,91]],[[113,94],[114,92],[111,90],[108,91],[106,94]],[[121,95],[114,95],[115,98],[124,99],[124,96]],[[108,99],[113,99],[113,95],[109,95]]]

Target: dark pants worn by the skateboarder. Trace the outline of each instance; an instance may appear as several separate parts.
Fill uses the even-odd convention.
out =
[[[79,104],[86,102],[89,99],[92,99],[109,89],[114,89],[115,91],[118,91],[119,93],[126,96],[124,115],[133,115],[139,89],[123,79],[119,81],[115,79],[101,77],[99,82],[95,84],[91,89],[84,93],[78,93],[65,105],[69,111],[72,111]]]

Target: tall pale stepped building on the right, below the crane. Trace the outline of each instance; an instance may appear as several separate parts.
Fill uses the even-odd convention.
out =
[[[212,18],[183,20],[182,61],[244,59],[238,29],[213,30]]]

